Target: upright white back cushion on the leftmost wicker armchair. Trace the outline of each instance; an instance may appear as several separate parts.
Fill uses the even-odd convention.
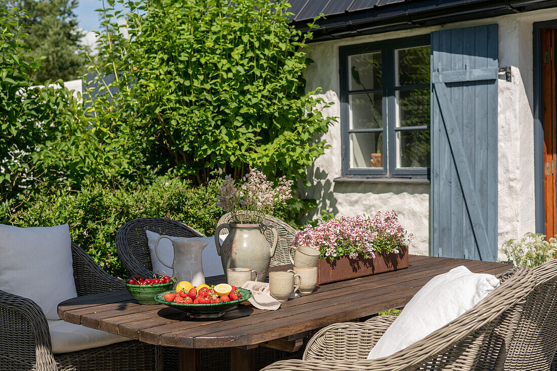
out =
[[[0,290],[35,301],[46,319],[60,319],[58,303],[77,296],[69,226],[0,224]]]

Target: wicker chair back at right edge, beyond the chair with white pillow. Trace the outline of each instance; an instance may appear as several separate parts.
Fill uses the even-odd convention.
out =
[[[551,369],[557,350],[557,260],[534,273],[535,288],[501,317],[477,370]]]

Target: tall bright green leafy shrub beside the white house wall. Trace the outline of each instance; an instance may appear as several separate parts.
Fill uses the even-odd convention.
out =
[[[95,69],[115,75],[119,93],[105,87],[90,107],[134,169],[172,170],[195,184],[240,179],[251,167],[271,180],[305,179],[331,118],[305,92],[311,33],[289,26],[290,4],[108,4]]]

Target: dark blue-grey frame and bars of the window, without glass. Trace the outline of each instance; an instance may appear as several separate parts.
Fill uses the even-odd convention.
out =
[[[398,131],[409,130],[405,127],[395,128],[395,91],[411,90],[413,88],[426,88],[430,84],[397,86],[394,85],[394,52],[398,49],[427,46],[431,44],[429,34],[420,36],[407,37],[402,39],[389,39],[378,42],[354,44],[339,47],[339,70],[340,70],[340,127],[341,127],[341,166],[343,176],[361,176],[361,177],[423,177],[429,178],[429,167],[416,168],[398,168],[396,167],[396,133]],[[349,71],[348,58],[353,55],[381,52],[382,54],[382,87],[372,91],[382,91],[382,112],[383,112],[383,128],[379,129],[350,129],[349,128],[349,106],[348,98],[350,94],[361,93],[365,91],[350,91],[349,89]],[[386,112],[386,114],[385,114]],[[431,122],[431,121],[430,121]],[[429,128],[430,125],[427,125]],[[416,129],[417,127],[412,127]],[[425,127],[424,127],[425,128]],[[383,161],[383,168],[365,169],[350,168],[350,133],[351,132],[382,132],[383,133],[383,157],[387,157],[387,161]],[[387,144],[390,144],[387,146]]]

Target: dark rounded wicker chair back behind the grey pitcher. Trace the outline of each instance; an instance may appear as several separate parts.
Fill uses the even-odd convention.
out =
[[[130,276],[153,275],[146,230],[167,236],[205,237],[190,226],[162,217],[140,217],[127,222],[116,234],[116,251]]]

